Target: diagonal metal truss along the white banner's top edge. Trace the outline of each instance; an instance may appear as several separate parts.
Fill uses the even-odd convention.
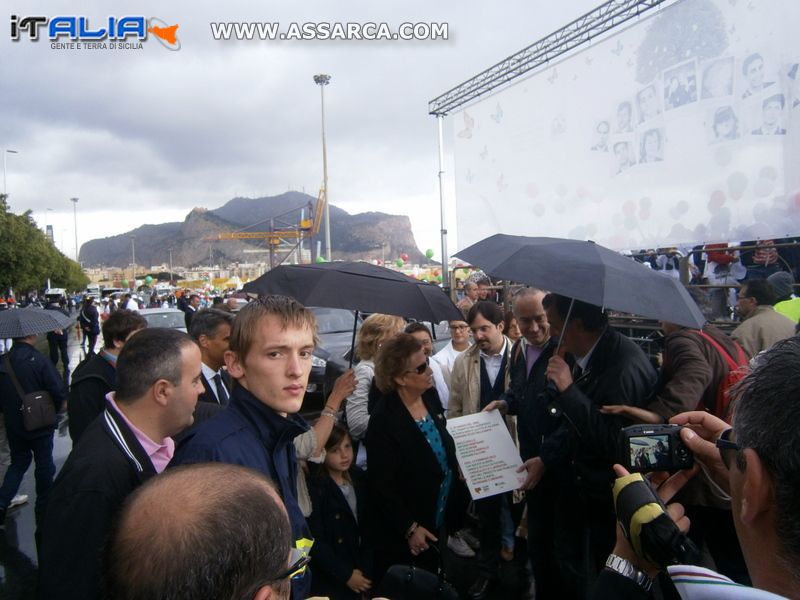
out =
[[[547,65],[553,59],[670,1],[609,0],[558,31],[434,98],[428,103],[428,112],[436,116],[447,115],[472,100],[542,65]]]

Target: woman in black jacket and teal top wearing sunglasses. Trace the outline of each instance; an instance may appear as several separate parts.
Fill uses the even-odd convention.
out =
[[[383,397],[367,430],[375,581],[393,564],[435,569],[445,526],[463,515],[453,439],[433,389],[422,344],[405,333],[385,342],[375,362]]]

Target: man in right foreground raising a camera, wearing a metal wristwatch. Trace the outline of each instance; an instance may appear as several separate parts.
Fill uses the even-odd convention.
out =
[[[697,567],[668,567],[683,598],[796,598],[800,589],[800,337],[777,342],[755,359],[734,390],[733,428],[706,412],[676,415],[681,438],[716,484],[731,497],[736,535],[756,589]],[[617,474],[625,474],[619,465]],[[690,474],[692,472],[689,472]],[[659,487],[664,502],[686,482],[681,472]],[[682,530],[683,507],[668,506]],[[643,560],[617,530],[613,570],[596,598],[647,598],[658,568]],[[611,561],[610,561],[611,562]],[[776,596],[777,594],[777,596]]]

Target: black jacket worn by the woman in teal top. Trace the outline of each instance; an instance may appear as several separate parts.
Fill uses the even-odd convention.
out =
[[[466,488],[458,478],[455,443],[445,428],[441,402],[428,392],[423,401],[439,430],[453,471],[445,517],[450,521],[461,513],[458,504],[464,501]],[[407,555],[410,560],[405,534],[414,522],[436,531],[436,504],[444,473],[397,393],[387,394],[377,403],[370,415],[366,443],[374,546]]]

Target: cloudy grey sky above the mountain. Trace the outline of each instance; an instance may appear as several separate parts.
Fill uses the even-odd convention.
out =
[[[159,17],[179,24],[181,49],[52,49],[0,38],[0,149],[12,210],[79,243],[145,223],[183,220],[234,196],[316,195],[322,182],[325,90],[330,200],[351,213],[407,214],[419,247],[438,257],[433,97],[591,10],[600,0],[276,0],[43,2],[7,15]],[[134,7],[134,8],[131,8]],[[6,17],[8,18],[8,17]],[[448,40],[217,41],[211,22],[446,22]],[[451,134],[446,130],[446,138]],[[452,171],[448,154],[448,170]],[[455,203],[447,188],[451,252]]]

